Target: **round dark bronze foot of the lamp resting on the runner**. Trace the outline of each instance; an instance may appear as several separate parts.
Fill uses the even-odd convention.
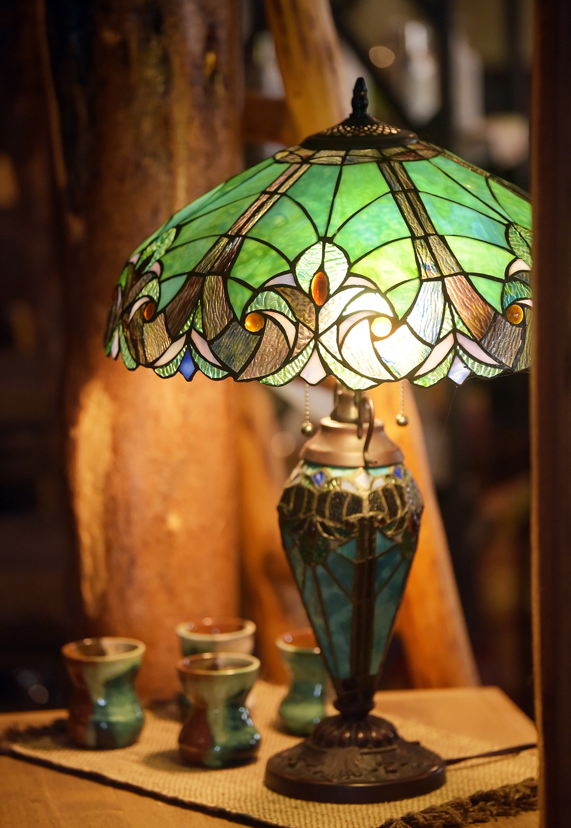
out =
[[[331,716],[311,736],[269,759],[264,783],[284,797],[311,802],[391,802],[444,785],[444,760],[407,742],[377,716]]]

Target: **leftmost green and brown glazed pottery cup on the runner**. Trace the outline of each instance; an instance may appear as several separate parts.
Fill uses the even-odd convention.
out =
[[[143,711],[135,677],[145,652],[136,638],[83,638],[61,648],[74,685],[68,731],[81,748],[125,748],[139,737]]]

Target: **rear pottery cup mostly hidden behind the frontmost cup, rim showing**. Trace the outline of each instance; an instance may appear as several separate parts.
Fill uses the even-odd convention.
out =
[[[176,627],[183,656],[199,652],[246,652],[254,650],[256,625],[246,619],[200,619]]]

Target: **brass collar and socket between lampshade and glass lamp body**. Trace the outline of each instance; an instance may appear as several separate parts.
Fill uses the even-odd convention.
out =
[[[321,420],[316,435],[303,446],[303,460],[347,468],[402,463],[399,447],[390,440],[383,423],[375,420],[373,400],[366,391],[335,388],[335,407]]]

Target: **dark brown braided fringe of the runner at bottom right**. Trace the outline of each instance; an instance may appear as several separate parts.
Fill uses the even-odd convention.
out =
[[[380,828],[466,828],[482,825],[498,816],[517,816],[537,811],[537,780],[524,779],[492,791],[478,791],[465,799],[431,805],[423,811],[383,822]]]

